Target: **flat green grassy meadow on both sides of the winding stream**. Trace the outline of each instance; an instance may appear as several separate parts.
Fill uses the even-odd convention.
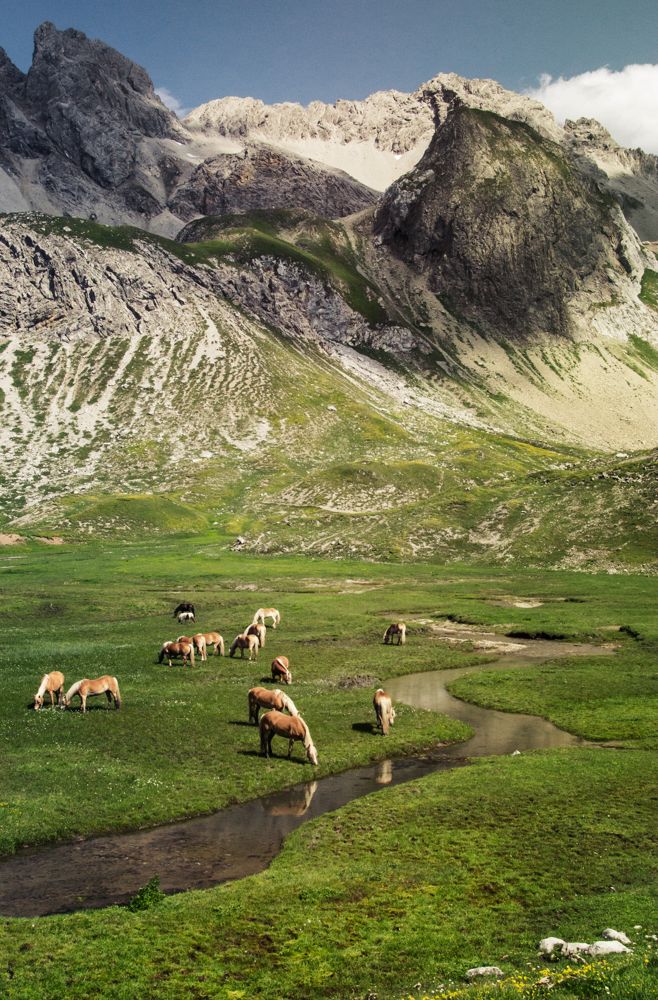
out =
[[[241,753],[256,748],[255,730],[232,724],[246,721],[246,689],[276,653],[290,656],[290,693],[320,774],[463,736],[405,707],[387,740],[352,726],[371,719],[379,681],[478,659],[482,672],[457,682],[461,695],[623,744],[490,758],[388,789],[300,828],[266,872],[142,912],[3,920],[0,995],[538,997],[540,937],[593,941],[612,926],[630,934],[634,954],[572,972],[556,963],[550,996],[658,996],[645,937],[658,933],[651,579],[258,558],[194,538],[5,550],[0,583],[5,853],[208,811],[310,776],[310,765]],[[261,604],[280,609],[281,628],[257,664],[170,670],[155,654],[177,634],[180,599],[194,600],[199,627],[229,639]],[[529,599],[541,603],[516,606]],[[385,648],[384,627],[398,617],[408,644]],[[494,681],[484,657],[446,647],[414,618],[619,648]],[[31,712],[41,673],[55,667],[67,683],[116,674],[122,710]],[[350,686],[355,678],[366,686]],[[480,964],[506,973],[491,994],[463,984]]]

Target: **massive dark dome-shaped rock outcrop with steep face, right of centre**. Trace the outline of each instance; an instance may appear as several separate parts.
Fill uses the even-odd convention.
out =
[[[375,233],[488,335],[574,332],[579,300],[635,293],[641,251],[613,199],[525,122],[455,99]]]

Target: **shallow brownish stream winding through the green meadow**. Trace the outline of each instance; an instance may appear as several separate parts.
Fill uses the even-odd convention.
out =
[[[442,633],[448,640],[466,637],[485,645],[501,639],[457,628]],[[211,816],[20,851],[0,863],[0,914],[32,917],[125,903],[155,874],[168,893],[243,878],[266,868],[286,835],[301,823],[387,785],[463,766],[468,757],[583,745],[584,740],[544,719],[459,701],[448,694],[446,685],[477,670],[508,670],[555,657],[601,655],[610,649],[543,640],[506,639],[505,643],[506,651],[495,662],[410,674],[386,684],[395,701],[468,723],[475,735],[466,742],[423,756],[353,768]],[[364,699],[370,709],[369,692],[364,691]]]

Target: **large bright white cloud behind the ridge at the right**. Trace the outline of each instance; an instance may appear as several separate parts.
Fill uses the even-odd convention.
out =
[[[527,91],[559,121],[596,118],[622,146],[658,153],[658,65],[607,66],[568,79],[540,77]]]

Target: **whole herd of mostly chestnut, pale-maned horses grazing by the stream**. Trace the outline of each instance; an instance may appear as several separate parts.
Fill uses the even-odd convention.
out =
[[[194,605],[189,602],[179,604],[174,610],[174,618],[179,624],[183,622],[195,622],[196,612]],[[244,656],[245,650],[249,652],[249,659],[255,660],[258,657],[258,650],[265,646],[267,628],[265,619],[270,619],[272,628],[275,629],[281,623],[281,615],[276,608],[259,608],[251,622],[244,630],[236,635],[229,648],[229,656],[234,656],[240,650],[240,656]],[[404,644],[406,640],[406,626],[404,622],[393,622],[384,633],[384,644],[393,644],[397,638],[397,645]],[[172,660],[182,660],[185,667],[195,665],[195,651],[205,662],[208,658],[208,648],[214,646],[215,656],[224,656],[224,639],[219,632],[197,632],[195,635],[179,635],[175,642],[165,642],[162,644],[158,655],[158,662],[167,660],[172,666]],[[276,656],[271,665],[272,680],[277,683],[291,684],[292,673],[290,663],[286,656]],[[59,670],[44,674],[39,689],[34,696],[33,707],[39,711],[44,704],[46,695],[50,696],[51,707],[55,705],[68,708],[74,697],[80,699],[80,709],[87,711],[87,698],[94,695],[105,694],[109,704],[114,704],[115,709],[121,708],[121,694],[119,692],[119,682],[116,677],[105,674],[93,680],[85,677],[72,684],[68,691],[64,691],[64,674]],[[260,751],[264,757],[272,756],[272,740],[274,736],[282,736],[288,740],[288,758],[292,754],[293,745],[301,742],[306,751],[306,757],[311,764],[318,763],[318,752],[311,738],[311,733],[306,722],[301,715],[292,698],[284,694],[279,688],[271,691],[269,688],[253,687],[247,694],[249,710],[249,722],[253,722],[259,727]],[[377,719],[377,726],[381,729],[382,735],[387,736],[390,726],[395,721],[395,709],[391,696],[383,689],[378,688],[373,697],[373,708]],[[263,714],[260,716],[260,710]],[[287,714],[286,714],[287,713]]]

